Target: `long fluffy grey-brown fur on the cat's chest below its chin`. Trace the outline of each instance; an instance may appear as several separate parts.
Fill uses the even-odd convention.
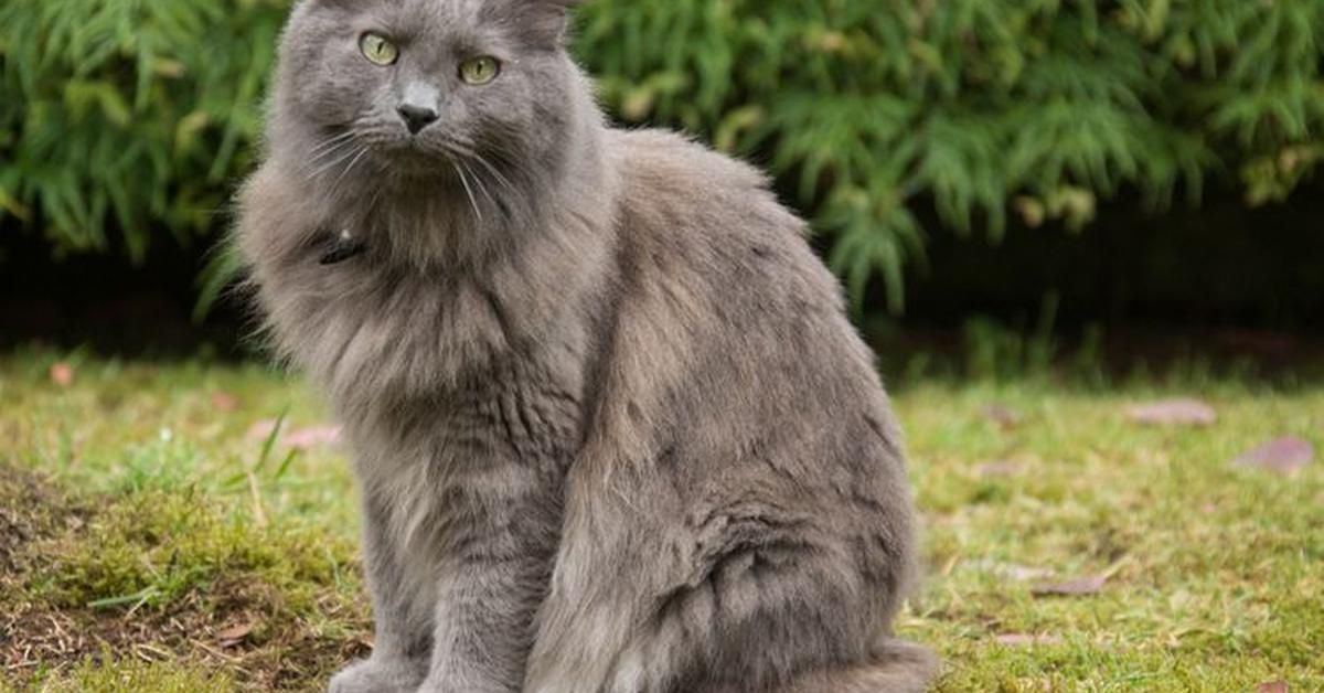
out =
[[[591,306],[612,284],[602,223],[551,213],[490,261],[417,266],[420,237],[477,231],[442,208],[328,212],[289,180],[269,163],[250,182],[244,250],[273,341],[328,395],[364,494],[389,498],[393,541],[458,555],[455,518],[559,496],[601,348]],[[326,265],[338,228],[365,250]]]

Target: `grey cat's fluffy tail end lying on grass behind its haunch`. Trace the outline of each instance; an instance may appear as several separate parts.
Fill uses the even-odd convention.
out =
[[[937,657],[927,649],[888,640],[866,664],[817,672],[777,693],[924,693],[937,669]]]

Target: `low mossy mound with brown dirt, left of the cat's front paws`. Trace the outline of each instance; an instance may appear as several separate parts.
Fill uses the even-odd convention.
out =
[[[17,497],[7,489],[38,488],[16,482],[21,476],[0,477],[0,501]],[[15,570],[0,582],[0,665],[20,684],[303,690],[367,653],[367,607],[346,541],[260,526],[188,489],[89,497],[70,515],[68,494],[40,488],[17,507],[25,527],[42,530],[5,545]]]

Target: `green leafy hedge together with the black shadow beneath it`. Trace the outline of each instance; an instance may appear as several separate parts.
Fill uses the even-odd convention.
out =
[[[197,299],[286,12],[0,3],[0,295],[41,319],[64,289]],[[866,314],[1324,310],[1319,0],[594,0],[576,24],[613,115],[771,168]]]

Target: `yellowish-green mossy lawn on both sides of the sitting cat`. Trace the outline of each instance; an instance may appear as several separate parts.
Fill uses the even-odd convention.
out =
[[[1218,423],[1128,420],[1172,395]],[[927,380],[895,400],[928,567],[900,628],[941,653],[939,690],[1324,689],[1324,465],[1230,465],[1324,445],[1324,386]],[[344,460],[254,432],[318,424],[316,401],[258,366],[0,358],[0,690],[319,689],[367,652]],[[1086,576],[1107,582],[1034,594]]]

